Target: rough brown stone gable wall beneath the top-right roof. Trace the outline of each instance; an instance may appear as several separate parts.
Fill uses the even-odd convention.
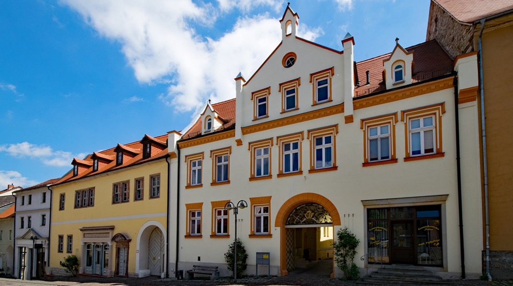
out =
[[[452,59],[473,51],[473,31],[474,26],[458,23],[444,9],[431,2],[426,41],[436,39]]]

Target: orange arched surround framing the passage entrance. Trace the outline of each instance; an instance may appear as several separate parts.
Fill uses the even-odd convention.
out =
[[[285,276],[288,274],[287,271],[287,219],[290,214],[299,206],[305,204],[318,204],[322,206],[331,217],[332,225],[341,225],[340,214],[337,211],[335,205],[326,197],[314,194],[314,193],[303,193],[298,194],[288,199],[280,207],[276,215],[274,222],[275,227],[280,227],[280,275]],[[333,266],[334,268],[334,266]],[[333,269],[334,270],[334,269]],[[334,273],[334,271],[333,271]],[[332,273],[332,275],[333,275]]]

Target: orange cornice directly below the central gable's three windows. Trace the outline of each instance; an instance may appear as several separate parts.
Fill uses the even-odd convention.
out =
[[[344,112],[344,104],[342,103],[342,104],[326,107],[323,109],[308,111],[305,113],[301,113],[301,114],[286,117],[286,118],[281,118],[281,119],[277,119],[277,120],[263,122],[260,124],[242,127],[241,129],[242,129],[242,134],[247,135],[247,134],[251,134],[254,132],[260,132],[260,131],[264,131],[264,130],[268,130],[268,129],[272,129],[272,128],[287,126],[290,124],[300,123],[300,122],[308,121],[308,120],[312,120],[312,119],[323,118],[326,116],[331,116],[331,115],[335,115],[335,114],[339,114],[339,113],[343,113],[343,112]]]

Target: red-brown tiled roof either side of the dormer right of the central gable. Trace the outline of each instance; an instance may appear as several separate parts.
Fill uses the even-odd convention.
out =
[[[453,60],[436,40],[424,42],[405,49],[413,52],[412,83],[428,81],[452,72]],[[383,80],[383,61],[391,53],[376,56],[356,64],[360,85],[354,88],[354,97],[377,93],[386,89]],[[369,84],[366,84],[366,71],[369,71]]]

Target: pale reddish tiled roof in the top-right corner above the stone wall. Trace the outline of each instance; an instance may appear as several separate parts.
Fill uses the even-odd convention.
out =
[[[511,0],[432,0],[459,22],[472,24],[484,17],[513,9]]]

